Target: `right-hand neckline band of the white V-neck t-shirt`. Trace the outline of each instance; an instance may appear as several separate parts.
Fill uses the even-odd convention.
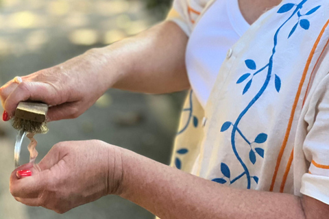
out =
[[[245,31],[249,29],[250,25],[245,21],[245,18],[241,13],[239,0],[226,0],[226,9],[234,31],[236,31],[236,34],[239,36],[242,36]]]

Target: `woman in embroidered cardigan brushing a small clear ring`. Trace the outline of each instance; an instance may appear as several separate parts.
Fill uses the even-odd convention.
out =
[[[175,1],[169,21],[7,83],[5,120],[27,99],[53,105],[49,120],[60,120],[108,88],[194,90],[173,156],[193,175],[97,140],[61,142],[41,172],[12,173],[12,195],[59,213],[117,194],[160,218],[327,218],[328,3],[279,3],[240,0],[232,16],[229,1]],[[233,25],[243,17],[245,33]]]

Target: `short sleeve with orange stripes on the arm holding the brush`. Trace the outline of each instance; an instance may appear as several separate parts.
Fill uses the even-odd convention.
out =
[[[193,24],[208,2],[209,0],[174,0],[167,21],[175,22],[187,36],[190,36]]]

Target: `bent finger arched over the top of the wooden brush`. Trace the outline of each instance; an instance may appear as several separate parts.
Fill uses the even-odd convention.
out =
[[[14,115],[17,105],[21,101],[42,101],[48,105],[58,105],[64,100],[56,92],[56,89],[49,83],[38,81],[23,81],[8,96],[3,105],[4,110]]]

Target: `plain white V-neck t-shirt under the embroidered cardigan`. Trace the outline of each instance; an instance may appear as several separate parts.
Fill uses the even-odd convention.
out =
[[[203,107],[230,47],[248,28],[238,0],[216,1],[195,25],[186,49],[186,69]]]

